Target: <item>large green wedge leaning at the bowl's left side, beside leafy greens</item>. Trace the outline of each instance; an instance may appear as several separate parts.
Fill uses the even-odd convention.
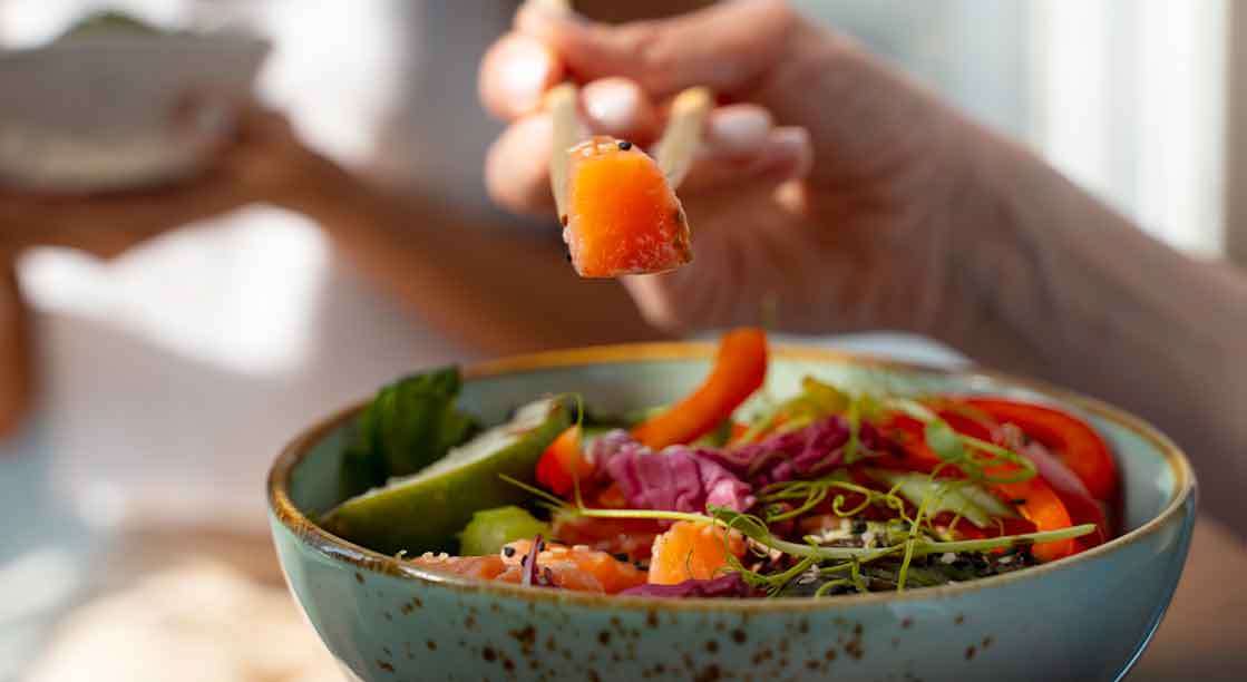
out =
[[[475,511],[529,499],[499,475],[531,484],[537,459],[571,425],[574,409],[565,399],[530,403],[420,471],[342,502],[320,525],[384,554],[455,552],[455,534]]]

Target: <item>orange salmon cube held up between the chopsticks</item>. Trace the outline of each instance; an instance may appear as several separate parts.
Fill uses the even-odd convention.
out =
[[[636,146],[592,137],[571,148],[562,238],[581,277],[678,268],[688,221],[658,165]]]

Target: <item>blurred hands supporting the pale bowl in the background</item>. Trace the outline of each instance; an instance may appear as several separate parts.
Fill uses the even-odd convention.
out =
[[[188,102],[182,113],[185,122],[193,123],[206,111],[209,118],[219,116],[222,105],[208,107],[202,102],[202,98]],[[337,168],[304,147],[283,116],[249,101],[232,101],[227,106],[232,128],[223,136],[213,136],[207,167],[186,181],[126,192],[64,196],[0,186],[0,436],[22,424],[36,384],[30,309],[15,273],[21,252],[54,246],[111,258],[170,229],[248,203],[268,202],[298,209],[303,197],[333,182]]]

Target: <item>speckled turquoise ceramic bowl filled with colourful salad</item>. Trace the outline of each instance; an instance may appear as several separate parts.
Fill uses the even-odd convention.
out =
[[[1116,680],[1195,479],[1109,405],[813,348],[557,350],[420,372],[268,485],[350,680]]]

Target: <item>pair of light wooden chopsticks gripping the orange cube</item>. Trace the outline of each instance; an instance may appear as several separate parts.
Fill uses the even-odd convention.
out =
[[[554,192],[559,216],[565,214],[567,202],[567,151],[585,138],[580,126],[579,91],[574,84],[555,86],[545,97],[546,111],[554,122],[550,148],[550,190]],[[653,160],[672,190],[680,186],[693,165],[702,127],[710,115],[713,97],[706,87],[690,87],[676,95],[671,102],[671,117],[662,137],[653,148]]]

